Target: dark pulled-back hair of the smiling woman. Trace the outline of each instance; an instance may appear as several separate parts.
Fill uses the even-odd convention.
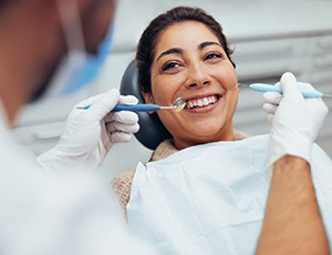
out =
[[[151,65],[155,54],[155,47],[160,33],[174,23],[185,21],[198,21],[206,24],[218,38],[228,59],[232,50],[229,49],[221,26],[208,13],[199,8],[176,7],[156,17],[143,32],[136,52],[136,65],[138,69],[138,85],[143,92],[151,92]]]

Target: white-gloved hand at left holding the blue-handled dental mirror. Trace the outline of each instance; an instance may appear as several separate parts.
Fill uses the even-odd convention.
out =
[[[40,155],[38,163],[50,171],[95,170],[114,143],[129,141],[139,129],[136,113],[111,111],[117,103],[137,102],[133,95],[120,95],[118,90],[83,100],[71,111],[59,143]],[[82,109],[86,105],[91,106]]]

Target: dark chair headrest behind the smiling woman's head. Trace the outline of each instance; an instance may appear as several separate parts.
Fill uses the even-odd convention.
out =
[[[138,99],[138,103],[145,103],[137,82],[137,69],[133,60],[126,68],[120,86],[121,94],[133,94]],[[156,113],[137,112],[139,116],[139,131],[135,134],[136,139],[146,147],[155,150],[160,142],[170,137],[169,132],[162,124]]]

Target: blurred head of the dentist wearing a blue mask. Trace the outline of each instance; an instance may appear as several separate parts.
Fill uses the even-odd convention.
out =
[[[92,82],[112,41],[116,0],[0,0],[0,100],[10,123],[28,102]]]

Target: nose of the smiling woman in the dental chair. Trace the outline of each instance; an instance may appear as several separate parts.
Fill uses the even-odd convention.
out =
[[[188,88],[200,88],[210,84],[210,76],[207,70],[200,64],[194,65],[188,70]]]

